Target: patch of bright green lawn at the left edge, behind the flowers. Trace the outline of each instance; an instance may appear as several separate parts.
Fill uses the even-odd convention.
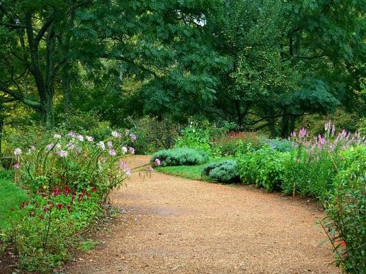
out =
[[[18,208],[27,200],[27,193],[18,188],[11,179],[0,177],[0,229],[10,225],[11,209]]]

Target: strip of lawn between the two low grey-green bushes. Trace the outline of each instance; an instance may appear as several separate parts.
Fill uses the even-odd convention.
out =
[[[210,159],[209,162],[205,164],[198,164],[196,166],[161,166],[156,169],[156,171],[159,171],[161,173],[169,174],[169,175],[175,175],[187,179],[196,179],[201,181],[207,181],[211,182],[211,180],[205,176],[202,176],[201,173],[203,171],[203,168],[207,164],[211,164],[213,162],[220,162],[222,160],[229,160],[233,159],[230,157],[225,158],[213,158]]]

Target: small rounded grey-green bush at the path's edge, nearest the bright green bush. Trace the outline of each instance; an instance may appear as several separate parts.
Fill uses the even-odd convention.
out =
[[[216,182],[240,182],[238,166],[235,160],[215,162],[204,167],[202,174]]]

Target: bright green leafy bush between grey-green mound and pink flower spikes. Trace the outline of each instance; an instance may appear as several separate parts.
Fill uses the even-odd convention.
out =
[[[286,158],[288,153],[275,151],[271,147],[240,154],[236,157],[240,178],[244,184],[255,183],[268,192],[280,190]]]

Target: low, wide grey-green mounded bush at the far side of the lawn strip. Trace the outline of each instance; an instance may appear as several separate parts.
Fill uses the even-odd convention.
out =
[[[192,166],[204,164],[209,159],[205,151],[196,149],[163,149],[152,155],[151,161],[161,161],[161,166]]]

